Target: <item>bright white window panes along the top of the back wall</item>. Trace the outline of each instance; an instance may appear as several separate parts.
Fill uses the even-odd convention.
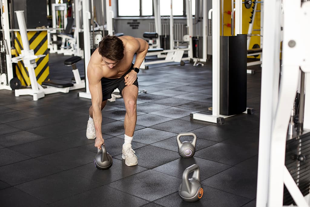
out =
[[[185,1],[186,0],[172,0],[173,16],[186,16],[184,9]],[[195,15],[195,3],[196,0],[192,0],[193,15]],[[153,0],[118,0],[117,7],[118,16],[154,16]],[[170,1],[160,0],[160,15],[170,16]]]

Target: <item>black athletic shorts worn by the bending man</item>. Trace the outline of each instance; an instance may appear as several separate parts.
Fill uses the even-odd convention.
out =
[[[134,64],[131,63],[130,69],[120,78],[110,79],[110,78],[102,78],[101,86],[102,86],[102,101],[108,100],[112,98],[113,91],[118,88],[120,91],[119,94],[122,96],[122,90],[125,88],[125,79],[124,77],[133,69]],[[133,83],[133,85],[139,88],[138,77]]]

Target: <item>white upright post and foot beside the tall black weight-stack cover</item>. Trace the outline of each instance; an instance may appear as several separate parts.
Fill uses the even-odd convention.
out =
[[[236,0],[236,8],[242,7],[242,1]],[[241,8],[242,10],[242,8]],[[212,13],[212,115],[200,114],[200,113],[191,113],[191,119],[207,121],[212,123],[220,123],[220,119],[228,118],[231,116],[225,116],[219,114],[219,54],[220,54],[220,45],[219,45],[219,36],[220,36],[220,1],[212,0],[212,9],[209,11],[209,18]],[[233,13],[233,12],[232,12]],[[235,34],[241,34],[242,24],[241,24],[241,15],[236,13],[236,27]],[[244,113],[247,113],[245,111]]]

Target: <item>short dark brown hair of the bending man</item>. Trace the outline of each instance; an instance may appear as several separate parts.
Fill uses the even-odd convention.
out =
[[[98,45],[99,54],[112,61],[120,61],[124,57],[123,41],[116,37],[106,35]]]

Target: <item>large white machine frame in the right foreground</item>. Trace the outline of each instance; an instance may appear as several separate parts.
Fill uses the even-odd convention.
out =
[[[280,73],[281,12],[283,11],[282,67]],[[306,76],[304,128],[310,129],[310,2],[264,2],[261,109],[256,206],[283,205],[283,183],[297,206],[309,206],[285,166],[286,135],[299,82],[299,67]],[[306,196],[307,199],[309,196]]]

